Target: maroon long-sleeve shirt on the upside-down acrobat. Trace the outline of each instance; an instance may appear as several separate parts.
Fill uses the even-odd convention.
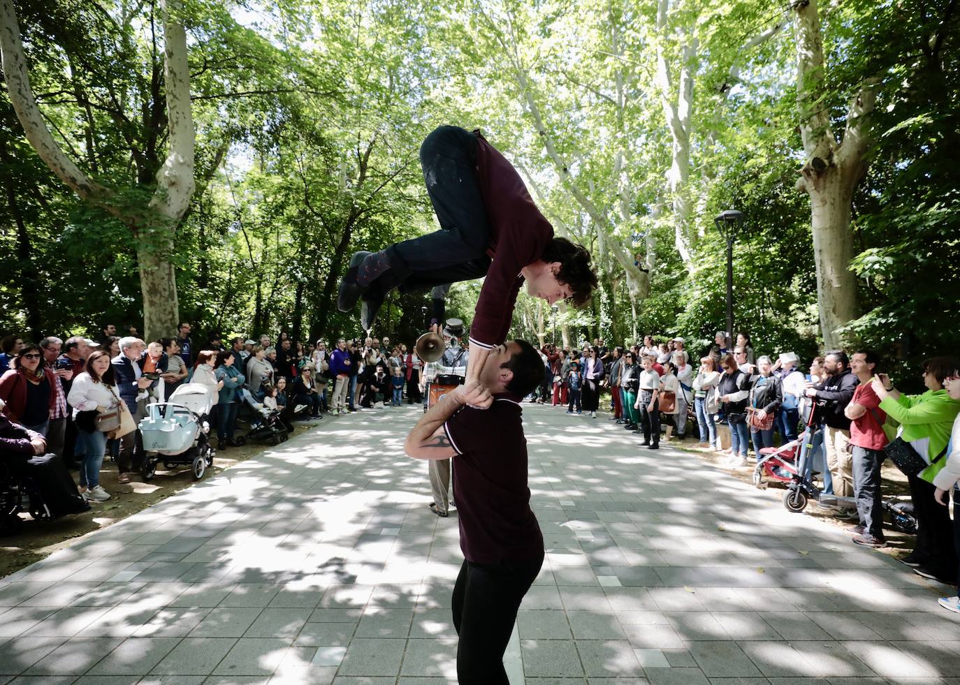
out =
[[[540,259],[553,226],[513,165],[482,135],[477,142],[477,180],[490,221],[487,254],[492,262],[470,323],[470,344],[490,349],[507,339],[523,284],[520,270]]]

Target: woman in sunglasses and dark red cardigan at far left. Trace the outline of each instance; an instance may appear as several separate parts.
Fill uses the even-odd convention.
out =
[[[55,383],[60,380],[46,366],[40,346],[24,345],[0,376],[0,399],[7,403],[3,412],[12,423],[46,437],[50,413],[56,409]]]

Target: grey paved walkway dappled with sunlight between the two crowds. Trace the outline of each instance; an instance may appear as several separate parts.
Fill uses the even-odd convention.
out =
[[[324,418],[0,581],[0,683],[455,682],[419,416]],[[548,554],[514,685],[960,685],[946,588],[604,418],[524,418]]]

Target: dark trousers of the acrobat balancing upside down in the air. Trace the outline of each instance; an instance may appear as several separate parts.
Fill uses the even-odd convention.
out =
[[[476,158],[476,136],[455,126],[434,130],[420,145],[423,180],[440,230],[387,248],[401,291],[472,280],[490,269],[490,224]]]

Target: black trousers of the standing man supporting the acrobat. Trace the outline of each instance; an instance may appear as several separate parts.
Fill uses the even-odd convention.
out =
[[[453,626],[460,685],[510,685],[503,653],[514,630],[516,610],[537,579],[543,555],[523,561],[477,564],[464,560],[453,587]]]

